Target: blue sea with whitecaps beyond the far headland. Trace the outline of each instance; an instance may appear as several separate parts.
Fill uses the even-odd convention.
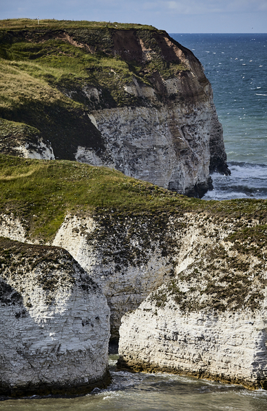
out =
[[[267,198],[267,34],[171,34],[213,87],[230,176],[214,173],[205,200]]]

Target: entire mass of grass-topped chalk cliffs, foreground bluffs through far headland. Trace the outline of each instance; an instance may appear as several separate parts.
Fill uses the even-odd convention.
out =
[[[120,368],[266,388],[267,203],[193,198],[228,173],[197,58],[119,23],[0,43],[0,394],[106,386],[110,334]]]

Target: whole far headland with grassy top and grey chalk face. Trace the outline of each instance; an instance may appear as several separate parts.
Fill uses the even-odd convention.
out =
[[[210,171],[229,173],[211,85],[166,32],[14,29],[0,45],[10,153],[104,165],[193,197],[211,188]],[[19,122],[34,129],[30,143]]]

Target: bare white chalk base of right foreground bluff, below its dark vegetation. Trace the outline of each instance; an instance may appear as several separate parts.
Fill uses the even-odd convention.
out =
[[[122,317],[120,367],[267,388],[266,315],[247,310],[184,314],[143,302]]]

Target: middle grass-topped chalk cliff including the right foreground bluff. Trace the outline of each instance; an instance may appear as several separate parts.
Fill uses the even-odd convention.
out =
[[[107,296],[114,340],[137,309],[122,318],[121,367],[266,388],[265,200],[19,157],[1,156],[0,181],[0,234],[67,249]]]

